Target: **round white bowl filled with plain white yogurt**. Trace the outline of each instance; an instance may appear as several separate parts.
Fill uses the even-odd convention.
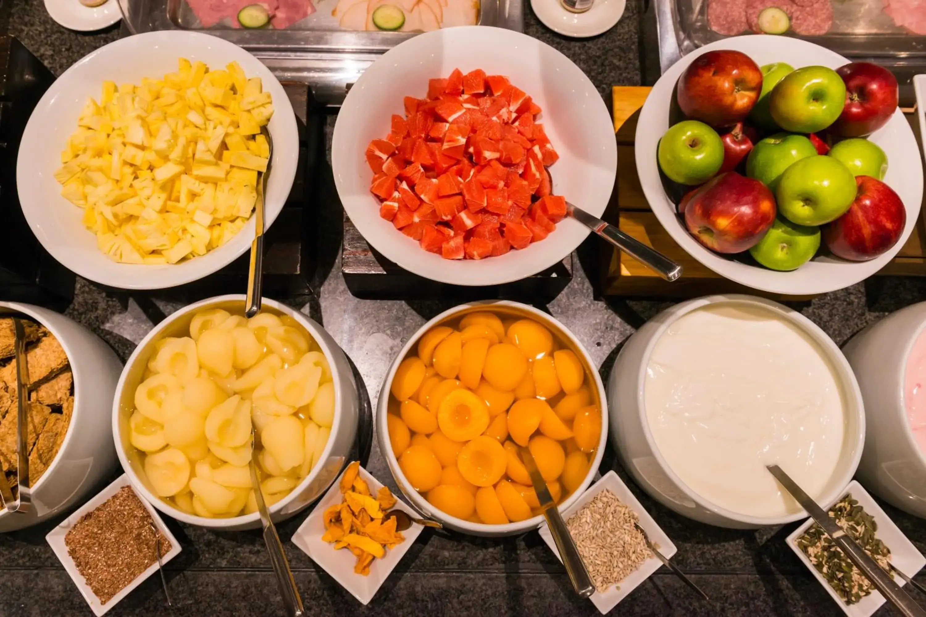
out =
[[[865,413],[845,356],[820,327],[746,295],[676,304],[638,329],[608,380],[611,438],[654,499],[733,528],[807,513],[776,463],[829,507],[852,479]]]

